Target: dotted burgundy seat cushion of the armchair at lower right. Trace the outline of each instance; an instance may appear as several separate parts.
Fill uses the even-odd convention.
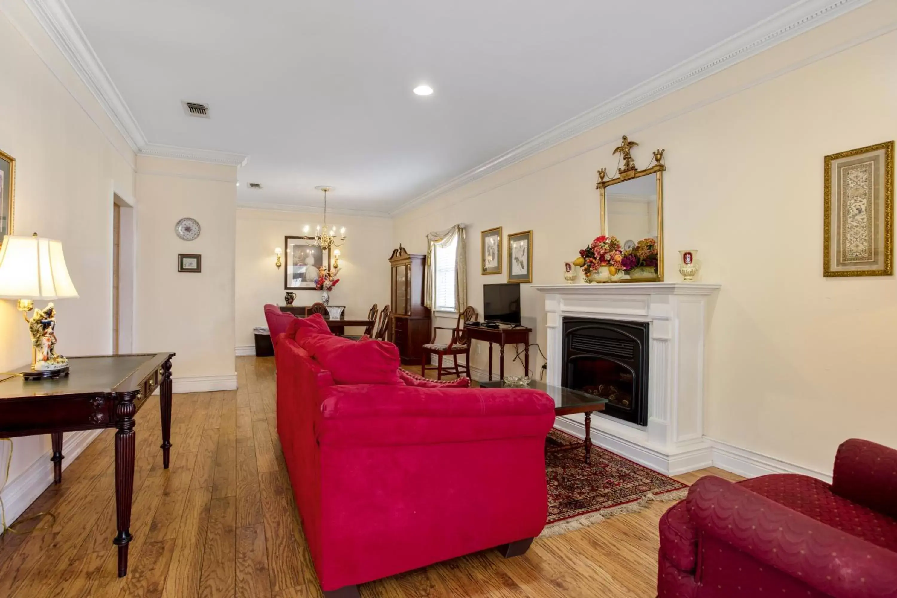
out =
[[[824,481],[777,473],[738,485],[841,532],[897,552],[897,519],[838,496]]]

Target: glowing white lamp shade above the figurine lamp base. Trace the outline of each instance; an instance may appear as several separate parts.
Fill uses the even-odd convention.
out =
[[[4,237],[0,247],[0,299],[77,296],[61,242],[42,237]]]

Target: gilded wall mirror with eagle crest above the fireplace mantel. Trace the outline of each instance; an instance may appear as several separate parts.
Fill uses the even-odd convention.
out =
[[[614,236],[623,250],[620,282],[664,280],[664,151],[656,150],[650,166],[638,169],[632,149],[638,143],[623,135],[614,149],[619,161],[614,178],[598,170],[601,234]]]

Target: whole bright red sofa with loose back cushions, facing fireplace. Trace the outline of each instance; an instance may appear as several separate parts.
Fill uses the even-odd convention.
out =
[[[334,336],[320,316],[294,320],[275,356],[277,431],[326,595],[477,550],[514,556],[542,531],[548,395],[406,386],[396,345]]]

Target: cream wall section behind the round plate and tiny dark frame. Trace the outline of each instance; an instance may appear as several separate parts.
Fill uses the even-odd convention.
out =
[[[137,156],[137,351],[175,351],[174,391],[236,388],[234,238],[237,168]],[[189,216],[202,228],[181,240]],[[178,254],[200,254],[201,273],[179,273]]]

